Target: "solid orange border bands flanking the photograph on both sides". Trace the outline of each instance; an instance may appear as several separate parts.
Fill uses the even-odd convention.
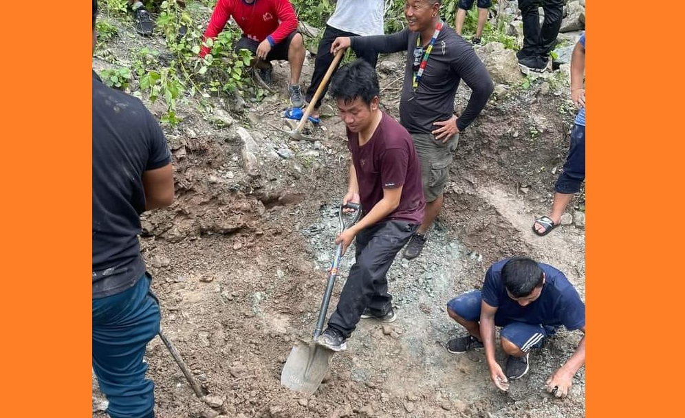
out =
[[[79,5],[3,3],[12,34],[0,66],[5,417],[92,413],[91,293],[79,278],[91,254],[91,28],[90,8]],[[677,10],[587,2],[588,417],[679,410]]]

